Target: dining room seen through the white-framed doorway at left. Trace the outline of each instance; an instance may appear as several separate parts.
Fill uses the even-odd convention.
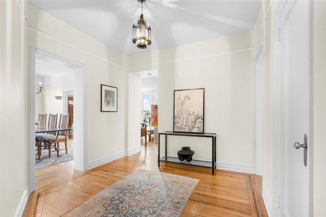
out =
[[[42,54],[36,55],[35,69],[37,171],[51,165],[73,161],[73,69],[63,61]],[[53,127],[66,127],[71,130],[55,131]],[[40,138],[40,135],[43,138]],[[44,137],[52,144],[47,145],[46,142],[39,141],[44,140]],[[56,139],[58,142],[53,142]]]

